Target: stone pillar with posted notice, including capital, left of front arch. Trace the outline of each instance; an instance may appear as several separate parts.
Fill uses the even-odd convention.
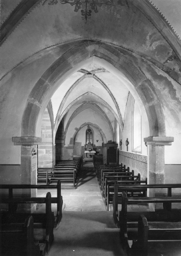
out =
[[[20,183],[36,184],[37,176],[37,144],[40,137],[12,137],[14,145],[21,146]],[[36,189],[21,189],[21,196],[36,196]],[[18,205],[18,208],[34,210],[35,205]]]

